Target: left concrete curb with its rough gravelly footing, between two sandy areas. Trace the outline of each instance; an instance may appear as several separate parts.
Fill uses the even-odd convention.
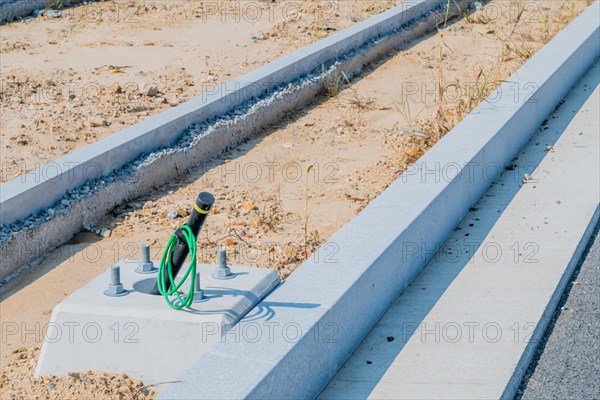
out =
[[[299,49],[178,107],[0,186],[0,280],[150,192],[281,120],[325,84],[423,36],[467,1],[418,0]]]

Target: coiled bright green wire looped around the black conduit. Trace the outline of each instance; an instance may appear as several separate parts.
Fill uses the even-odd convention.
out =
[[[173,255],[173,250],[175,250],[175,246],[177,245],[178,239],[175,234],[171,235],[169,242],[167,243],[167,247],[165,248],[165,252],[163,253],[162,259],[160,260],[160,268],[158,270],[158,291],[165,298],[165,301],[174,310],[181,310],[184,307],[190,307],[194,302],[194,287],[196,284],[196,237],[192,233],[192,230],[189,226],[183,225],[181,228],[181,233],[185,238],[188,248],[190,249],[190,265],[179,283],[175,284],[175,279],[173,277],[173,268],[171,265],[171,257]],[[171,289],[166,290],[165,279],[164,279],[164,271],[165,268],[169,273],[169,282],[171,283]],[[179,294],[179,288],[183,286],[185,281],[187,280],[189,275],[192,275],[192,281],[190,283],[190,290],[185,300],[181,298]],[[178,302],[175,302],[175,299],[171,299],[170,296],[175,295]]]

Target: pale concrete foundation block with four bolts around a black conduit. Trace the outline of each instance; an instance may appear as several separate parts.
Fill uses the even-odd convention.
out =
[[[215,266],[202,264],[206,300],[176,311],[163,296],[144,293],[156,273],[135,272],[134,260],[118,265],[126,295],[104,294],[107,271],[54,308],[36,377],[93,370],[126,373],[146,384],[172,381],[280,282],[274,270],[248,267],[231,267],[233,279],[217,280],[211,277]]]

